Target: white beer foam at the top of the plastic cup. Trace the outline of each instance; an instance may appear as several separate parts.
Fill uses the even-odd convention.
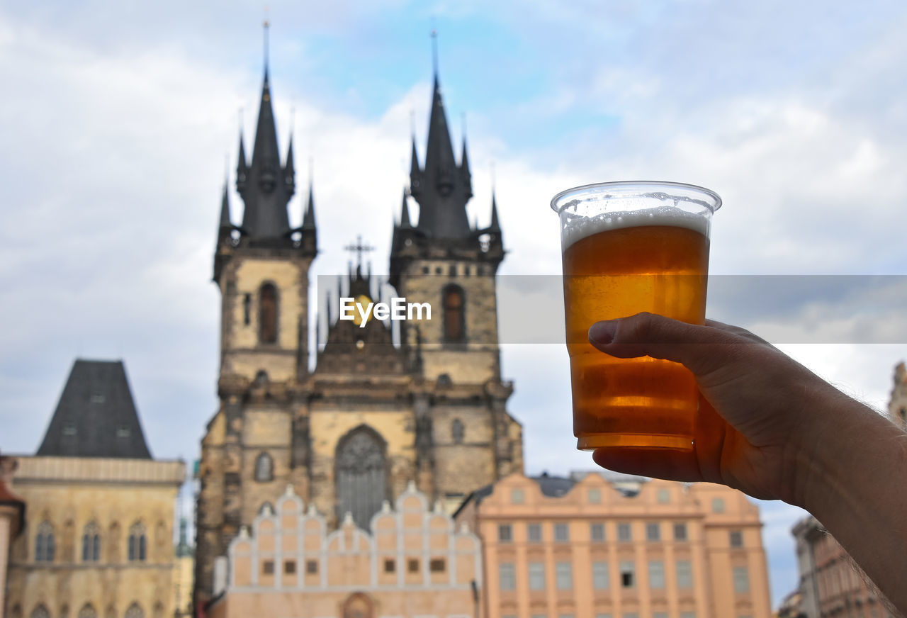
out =
[[[667,225],[687,228],[708,236],[709,220],[702,214],[685,211],[674,206],[663,206],[640,211],[602,212],[594,217],[561,213],[567,221],[563,223],[561,242],[567,249],[577,240],[582,240],[600,231],[639,228],[644,225]]]

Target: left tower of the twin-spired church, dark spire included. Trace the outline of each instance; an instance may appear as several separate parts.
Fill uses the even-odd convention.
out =
[[[242,222],[232,222],[225,184],[214,255],[221,298],[220,406],[201,448],[196,581],[203,592],[210,591],[214,559],[262,502],[274,500],[288,483],[300,495],[307,491],[305,474],[294,475],[288,437],[308,373],[315,204],[309,187],[303,224],[291,229],[293,143],[291,138],[281,163],[267,64],[250,160],[239,135],[236,189],[245,206]]]

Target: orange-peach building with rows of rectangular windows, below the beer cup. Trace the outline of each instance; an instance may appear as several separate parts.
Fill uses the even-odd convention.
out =
[[[455,515],[482,541],[485,618],[769,618],[756,505],[726,486],[507,476]]]

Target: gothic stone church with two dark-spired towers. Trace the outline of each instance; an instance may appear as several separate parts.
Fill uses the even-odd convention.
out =
[[[466,144],[457,163],[436,70],[424,164],[413,142],[389,263],[396,296],[430,303],[432,319],[398,322],[394,337],[389,321],[359,328],[337,319],[329,299],[327,333],[318,329],[309,350],[315,202],[309,186],[302,225],[291,228],[293,144],[281,164],[267,67],[250,160],[239,137],[236,187],[242,223],[230,217],[225,187],[214,257],[220,406],[201,443],[197,603],[210,598],[215,558],[288,486],[329,525],[349,513],[367,530],[410,481],[450,512],[474,489],[522,471],[522,429],[506,408],[513,387],[498,348],[502,232],[494,201],[489,227],[467,219]],[[346,297],[375,298],[361,268],[344,279]]]

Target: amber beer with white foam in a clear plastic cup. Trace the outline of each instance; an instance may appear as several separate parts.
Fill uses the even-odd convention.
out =
[[[660,198],[652,208],[630,200],[634,210],[612,211],[612,200],[610,211],[566,218],[559,211],[573,434],[582,450],[693,446],[698,407],[693,375],[667,360],[613,358],[588,340],[595,322],[640,311],[705,321],[714,209],[703,216],[669,199],[666,206]]]

